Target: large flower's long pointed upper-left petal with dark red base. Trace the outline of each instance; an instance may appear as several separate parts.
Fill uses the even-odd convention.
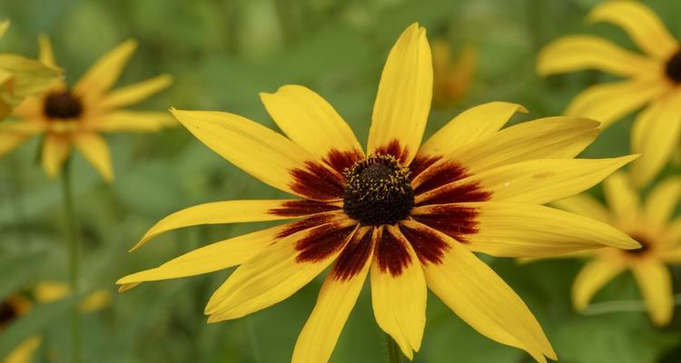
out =
[[[312,200],[342,197],[340,173],[259,123],[232,113],[171,112],[212,151],[262,182]]]

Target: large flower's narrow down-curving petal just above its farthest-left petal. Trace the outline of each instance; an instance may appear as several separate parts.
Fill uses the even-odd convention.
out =
[[[154,237],[184,227],[202,224],[222,224],[248,221],[277,221],[290,219],[291,215],[273,212],[291,201],[215,201],[194,205],[158,221],[144,233],[142,240],[131,250],[136,250]]]

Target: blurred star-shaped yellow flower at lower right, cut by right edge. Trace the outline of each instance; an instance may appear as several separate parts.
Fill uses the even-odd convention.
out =
[[[629,269],[643,293],[650,319],[656,325],[666,325],[674,312],[674,298],[671,275],[665,264],[681,263],[681,218],[670,221],[681,196],[681,178],[661,182],[643,205],[638,200],[638,192],[622,173],[607,178],[604,187],[609,211],[587,194],[555,204],[566,211],[610,223],[643,247],[640,250],[605,248],[588,253],[593,259],[579,272],[572,289],[575,308],[587,308],[598,289]]]

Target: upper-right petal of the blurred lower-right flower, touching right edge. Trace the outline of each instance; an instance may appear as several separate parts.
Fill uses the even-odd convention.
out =
[[[646,222],[662,228],[676,211],[681,197],[681,177],[671,176],[656,185],[644,206]]]

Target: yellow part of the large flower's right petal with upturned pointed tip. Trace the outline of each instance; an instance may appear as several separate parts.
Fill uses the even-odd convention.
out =
[[[637,156],[614,159],[540,159],[501,166],[451,182],[416,198],[429,201],[464,185],[479,185],[493,201],[545,204],[585,191]]]

